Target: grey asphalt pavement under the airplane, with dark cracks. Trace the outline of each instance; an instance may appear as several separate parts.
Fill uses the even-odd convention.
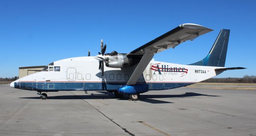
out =
[[[256,90],[183,87],[140,101],[103,91],[47,94],[0,85],[0,135],[256,136]]]

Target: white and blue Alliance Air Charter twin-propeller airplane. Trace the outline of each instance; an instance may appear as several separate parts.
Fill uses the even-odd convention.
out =
[[[175,48],[182,42],[194,40],[212,29],[198,24],[181,24],[158,38],[129,53],[106,53],[101,40],[97,56],[67,58],[48,64],[41,72],[20,78],[10,84],[12,88],[42,92],[102,90],[120,98],[128,95],[139,100],[140,94],[149,90],[167,90],[195,84],[217,76],[226,68],[226,53],[230,30],[222,29],[208,55],[193,64],[181,65],[152,60],[164,50]],[[105,67],[105,66],[106,67]]]

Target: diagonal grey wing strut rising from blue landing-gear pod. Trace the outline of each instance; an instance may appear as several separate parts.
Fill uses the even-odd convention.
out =
[[[132,73],[131,78],[128,80],[127,85],[134,85],[140,78],[143,71],[148,66],[148,63],[154,56],[154,52],[156,52],[157,49],[155,48],[144,48],[142,49],[142,52],[145,52],[145,54],[142,56],[138,66],[135,68],[134,72]]]

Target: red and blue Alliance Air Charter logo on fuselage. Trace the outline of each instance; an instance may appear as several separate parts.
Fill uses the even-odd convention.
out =
[[[151,70],[154,70],[153,74],[170,74],[170,75],[178,75],[181,73],[181,76],[185,76],[188,74],[188,69],[186,68],[177,68],[177,67],[169,67],[168,65],[161,65],[161,63],[151,65]]]

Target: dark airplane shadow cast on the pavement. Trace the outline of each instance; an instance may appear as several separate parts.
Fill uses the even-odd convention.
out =
[[[48,99],[118,99],[118,100],[127,100],[126,96],[123,98],[116,98],[114,93],[105,92],[105,91],[97,91],[101,94],[85,94],[85,95],[64,95],[64,96],[48,96]],[[162,100],[155,100],[153,98],[185,98],[185,97],[193,97],[193,96],[212,96],[207,94],[198,94],[194,92],[186,92],[185,94],[141,94],[140,101],[148,102],[152,104],[162,104],[162,103],[173,103],[166,102]],[[41,99],[40,97],[21,97],[23,99]]]

